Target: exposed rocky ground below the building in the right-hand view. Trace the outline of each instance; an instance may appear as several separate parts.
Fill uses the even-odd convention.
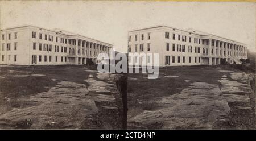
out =
[[[248,81],[250,77],[255,76],[243,72],[221,70],[220,68],[211,69],[214,69],[216,74],[221,75],[221,77],[214,76],[218,82],[195,81],[191,77],[184,80],[184,84],[188,82],[188,86],[177,88],[180,89],[178,93],[152,97],[146,101],[138,99],[138,105],[147,105],[147,109],[139,109],[143,106],[130,109],[128,113],[130,114],[129,127],[164,129],[254,128],[255,95]],[[160,78],[166,76],[170,77],[170,73],[165,73]],[[181,77],[177,73],[175,76]],[[211,77],[209,76],[209,78]],[[137,79],[139,78],[137,77],[136,80],[130,78],[129,82],[138,81]],[[175,81],[173,80],[173,82]],[[170,83],[172,83],[171,80]],[[159,85],[161,85],[160,82]],[[155,93],[157,92],[155,91]]]

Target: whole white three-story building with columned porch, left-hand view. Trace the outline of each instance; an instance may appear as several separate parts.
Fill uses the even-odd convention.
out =
[[[35,26],[0,31],[0,64],[60,65],[98,63],[98,53],[110,54],[112,44],[71,32]]]

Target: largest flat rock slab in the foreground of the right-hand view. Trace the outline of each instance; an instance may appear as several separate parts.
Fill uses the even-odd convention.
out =
[[[129,119],[129,126],[147,127],[158,123],[165,129],[212,128],[230,113],[218,85],[205,82],[194,82],[181,93],[157,98],[154,102],[161,109],[143,111]]]

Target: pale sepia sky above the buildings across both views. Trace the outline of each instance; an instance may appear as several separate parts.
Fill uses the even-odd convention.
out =
[[[256,3],[145,1],[0,1],[0,28],[60,28],[127,52],[127,32],[156,25],[222,36],[255,51]]]

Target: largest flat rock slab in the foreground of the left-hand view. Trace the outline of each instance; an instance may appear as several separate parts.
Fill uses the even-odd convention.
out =
[[[19,123],[28,121],[29,128],[80,128],[83,121],[98,112],[86,86],[68,81],[61,81],[48,92],[38,93],[24,102],[34,104],[1,115],[1,128],[19,128]]]

